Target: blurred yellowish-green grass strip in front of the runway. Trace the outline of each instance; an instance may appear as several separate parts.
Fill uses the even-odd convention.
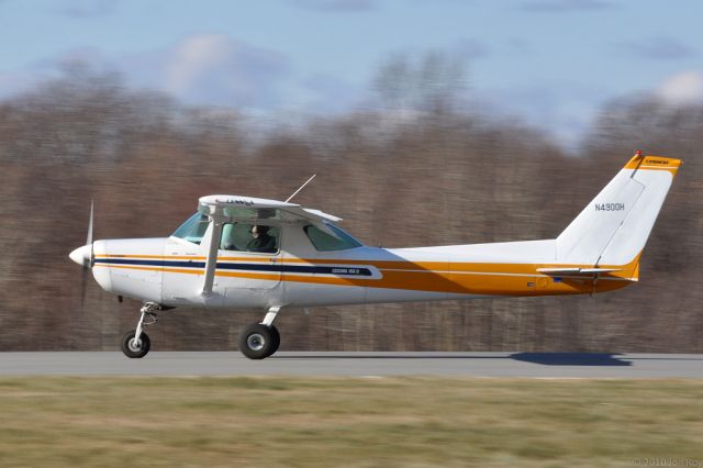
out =
[[[0,394],[2,467],[703,466],[701,380],[41,377]]]

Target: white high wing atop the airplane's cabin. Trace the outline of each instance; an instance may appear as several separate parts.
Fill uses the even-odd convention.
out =
[[[302,208],[297,203],[288,203],[264,198],[215,194],[202,197],[198,203],[202,214],[220,214],[227,219],[267,222],[284,222],[306,220],[315,225],[324,225],[325,221],[337,223],[342,218],[320,210]],[[325,229],[325,231],[328,231]]]

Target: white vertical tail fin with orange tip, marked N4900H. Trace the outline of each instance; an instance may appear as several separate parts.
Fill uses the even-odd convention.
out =
[[[635,156],[557,237],[557,260],[622,266],[636,280],[641,254],[680,159]],[[623,271],[625,272],[625,271]]]

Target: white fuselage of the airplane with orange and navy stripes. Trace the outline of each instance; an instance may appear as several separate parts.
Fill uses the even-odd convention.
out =
[[[610,291],[636,281],[627,268],[559,277],[555,239],[321,252],[301,224],[280,226],[275,253],[217,250],[202,293],[208,246],[179,237],[97,241],[93,276],[109,292],[166,307],[269,308],[550,296]],[[204,236],[207,238],[207,236]]]

